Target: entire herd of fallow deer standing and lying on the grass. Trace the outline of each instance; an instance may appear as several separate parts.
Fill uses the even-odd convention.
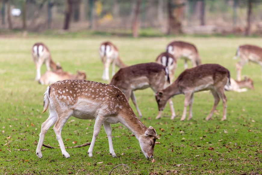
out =
[[[218,64],[202,64],[197,48],[182,41],[173,41],[166,47],[166,52],[159,54],[155,62],[126,66],[120,59],[117,47],[111,42],[103,42],[99,47],[99,56],[104,66],[102,79],[104,84],[87,81],[84,72],[77,71],[76,75],[64,72],[59,63],[51,59],[47,46],[36,43],[31,49],[33,61],[36,65],[36,80],[40,84],[49,85],[44,94],[44,113],[49,108],[49,117],[42,123],[36,154],[42,158],[41,148],[45,133],[54,125],[54,132],[61,148],[62,155],[69,158],[61,131],[70,116],[78,119],[94,119],[94,131],[88,150],[92,157],[96,137],[101,126],[104,126],[108,137],[109,153],[116,157],[112,144],[110,124],[121,123],[134,133],[139,141],[141,150],[146,158],[153,158],[157,133],[152,126],[146,127],[139,118],[142,113],[137,105],[134,91],[151,88],[158,104],[158,115],[168,101],[171,119],[176,114],[171,98],[184,94],[184,109],[180,120],[186,119],[189,106],[188,120],[192,119],[192,103],[194,93],[210,90],[214,97],[214,105],[206,120],[211,119],[220,98],[223,102],[222,121],[226,120],[227,98],[224,91],[244,92],[246,88],[254,89],[253,81],[245,77],[241,80],[241,69],[248,61],[256,62],[262,70],[262,48],[253,45],[242,45],[237,48],[236,56],[240,61],[236,64],[237,78],[230,78],[230,72]],[[177,61],[184,60],[185,70],[175,79],[174,73]],[[187,61],[191,61],[193,68],[188,69]],[[40,68],[45,63],[47,71],[41,76]],[[112,65],[112,78],[109,78],[109,67]],[[115,73],[115,66],[120,69]],[[51,71],[52,69],[52,71]],[[135,105],[139,118],[129,105],[129,98]]]

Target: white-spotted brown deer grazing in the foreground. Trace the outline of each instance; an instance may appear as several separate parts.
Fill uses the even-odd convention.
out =
[[[61,130],[70,116],[78,119],[95,119],[93,138],[88,149],[92,157],[95,139],[104,125],[108,136],[109,152],[116,157],[111,138],[111,123],[122,123],[139,141],[146,158],[153,158],[157,133],[147,128],[135,115],[125,95],[115,86],[87,80],[63,80],[47,87],[44,96],[44,111],[49,107],[49,117],[42,123],[36,155],[42,158],[41,148],[45,133],[55,124],[54,131],[63,156],[69,158]],[[42,112],[42,113],[43,113]]]

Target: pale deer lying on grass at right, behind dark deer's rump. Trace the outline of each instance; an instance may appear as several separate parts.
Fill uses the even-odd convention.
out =
[[[226,84],[225,90],[226,91],[235,91],[235,92],[245,92],[247,89],[254,89],[253,81],[245,77],[244,80],[241,81],[235,81],[233,78],[230,78],[230,85]]]

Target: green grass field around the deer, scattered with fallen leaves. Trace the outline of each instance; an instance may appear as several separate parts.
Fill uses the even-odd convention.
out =
[[[98,46],[105,40],[118,47],[120,57],[127,65],[154,62],[170,41],[188,41],[197,46],[203,63],[223,65],[233,78],[236,77],[235,64],[238,61],[232,59],[236,47],[244,43],[262,46],[261,38],[0,38],[1,174],[108,174],[118,164],[128,167],[119,166],[112,174],[262,173],[262,82],[260,66],[253,63],[244,66],[242,75],[254,80],[255,90],[226,92],[227,120],[223,122],[220,121],[221,101],[213,118],[205,121],[214,103],[210,93],[196,93],[192,120],[180,121],[183,95],[173,97],[177,115],[174,120],[170,120],[169,107],[163,111],[164,116],[156,120],[158,108],[153,91],[136,91],[143,114],[142,123],[147,127],[153,126],[158,133],[157,142],[160,144],[155,145],[154,162],[145,158],[138,140],[121,124],[111,125],[117,158],[109,154],[103,127],[96,139],[92,158],[87,155],[89,146],[67,148],[70,159],[63,158],[60,149],[43,147],[43,158],[37,158],[35,151],[41,124],[48,117],[48,112],[40,113],[47,86],[34,81],[36,73],[30,49],[34,43],[41,41],[49,47],[53,60],[60,62],[65,71],[85,71],[87,80],[107,83],[101,79],[103,66],[98,57]],[[43,65],[41,72],[45,70]],[[179,60],[175,76],[182,71],[183,62]],[[136,113],[132,102],[131,107]],[[65,146],[91,142],[93,126],[93,120],[70,117],[62,131]],[[59,147],[52,127],[45,136],[44,144]]]

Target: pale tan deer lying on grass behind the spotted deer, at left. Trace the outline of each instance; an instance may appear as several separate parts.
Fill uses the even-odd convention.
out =
[[[77,71],[76,75],[71,74],[70,72],[63,72],[62,70],[57,71],[46,71],[39,79],[40,84],[52,84],[61,80],[85,80],[86,73]]]

